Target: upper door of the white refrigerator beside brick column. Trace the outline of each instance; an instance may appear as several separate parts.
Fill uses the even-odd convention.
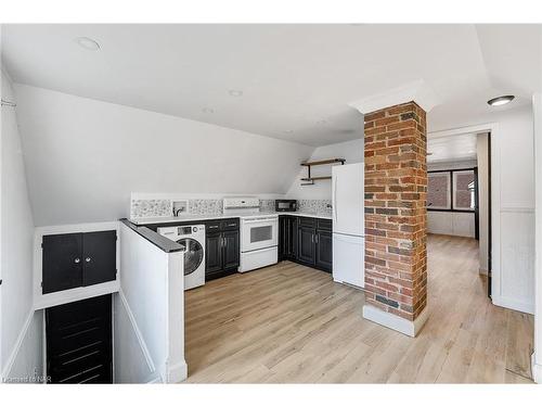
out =
[[[332,167],[333,231],[364,236],[363,163]]]

